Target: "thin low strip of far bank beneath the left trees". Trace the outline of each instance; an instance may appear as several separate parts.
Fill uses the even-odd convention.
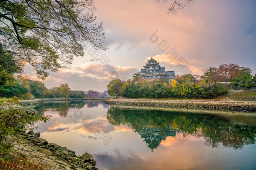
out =
[[[35,100],[19,100],[19,104],[22,106],[26,105],[38,105],[44,102],[65,102],[65,101],[76,101],[76,100],[106,100],[105,98],[82,98],[82,99],[35,99]]]

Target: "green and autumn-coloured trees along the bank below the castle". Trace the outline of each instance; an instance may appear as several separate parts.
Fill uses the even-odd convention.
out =
[[[177,75],[168,83],[165,79],[142,80],[138,73],[132,79],[112,80],[108,85],[111,96],[128,98],[212,98],[223,95],[231,88],[256,87],[256,75],[251,75],[251,69],[237,64],[222,64],[219,68],[203,68],[203,75]],[[224,85],[221,82],[232,82]]]

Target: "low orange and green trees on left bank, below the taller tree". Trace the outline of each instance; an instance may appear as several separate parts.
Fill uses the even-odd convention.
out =
[[[14,82],[7,82],[5,86],[0,85],[1,97],[28,98],[83,98],[84,92],[70,90],[67,83],[61,84],[59,87],[48,89],[45,84],[39,81],[30,80],[28,78],[17,76]]]

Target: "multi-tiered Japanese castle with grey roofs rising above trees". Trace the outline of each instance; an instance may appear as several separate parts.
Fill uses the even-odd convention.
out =
[[[161,67],[157,60],[151,57],[147,62],[139,72],[139,77],[142,79],[166,79],[168,82],[175,79],[174,71],[165,71],[165,67]]]

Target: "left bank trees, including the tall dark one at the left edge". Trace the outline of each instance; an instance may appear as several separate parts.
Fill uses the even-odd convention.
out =
[[[39,81],[22,76],[23,66],[13,55],[3,50],[0,43],[0,97],[34,98],[83,98],[84,92],[70,90],[67,83],[48,89]]]

